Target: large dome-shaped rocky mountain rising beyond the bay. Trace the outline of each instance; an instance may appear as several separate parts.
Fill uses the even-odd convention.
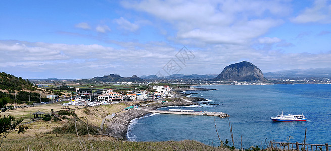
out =
[[[214,81],[269,81],[263,77],[262,71],[250,62],[240,62],[226,66]]]

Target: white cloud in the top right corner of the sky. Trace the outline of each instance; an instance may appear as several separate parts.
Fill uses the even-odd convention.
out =
[[[315,0],[313,7],[306,8],[301,14],[291,19],[294,23],[331,23],[331,4],[327,0]]]

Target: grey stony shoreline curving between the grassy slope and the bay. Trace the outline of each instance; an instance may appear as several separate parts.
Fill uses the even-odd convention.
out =
[[[155,110],[157,108],[165,107],[165,106],[188,106],[194,104],[196,103],[168,102],[168,103],[157,103],[155,105],[150,105],[142,108]],[[128,126],[131,123],[131,120],[138,117],[142,117],[148,113],[150,112],[146,112],[143,110],[135,110],[135,109],[117,113],[112,120],[105,122],[106,128],[104,134],[117,137],[119,139],[127,140],[126,134],[127,134]]]

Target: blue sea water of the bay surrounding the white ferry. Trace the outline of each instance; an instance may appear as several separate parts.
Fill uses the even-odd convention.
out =
[[[172,109],[192,109],[194,111],[225,112],[232,124],[235,147],[244,148],[258,145],[266,147],[267,142],[290,142],[304,140],[306,143],[331,144],[331,85],[214,85],[197,86],[213,88],[212,91],[195,91],[192,96],[202,97],[216,105],[202,104],[203,107],[170,107]],[[187,91],[190,93],[190,91]],[[168,110],[169,108],[160,108]],[[281,114],[303,113],[306,122],[272,122],[270,117]],[[228,118],[214,116],[148,114],[134,119],[128,128],[131,141],[197,140],[208,145],[219,146],[214,125],[221,140],[228,139],[232,146]]]

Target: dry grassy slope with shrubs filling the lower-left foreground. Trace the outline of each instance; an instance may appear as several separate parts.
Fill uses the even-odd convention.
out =
[[[123,106],[123,104],[115,107],[91,107],[89,110],[115,111],[120,106]],[[82,111],[81,116],[84,115],[85,109],[80,109]],[[89,132],[87,132],[87,124],[84,118],[75,118],[73,112],[68,111],[58,113],[60,120],[39,120],[29,124],[24,134],[10,133],[3,139],[0,150],[221,150],[193,140],[165,142],[118,141],[113,137],[99,135],[93,126],[97,123],[91,122],[91,125],[88,124]],[[79,137],[77,137],[77,133]]]

